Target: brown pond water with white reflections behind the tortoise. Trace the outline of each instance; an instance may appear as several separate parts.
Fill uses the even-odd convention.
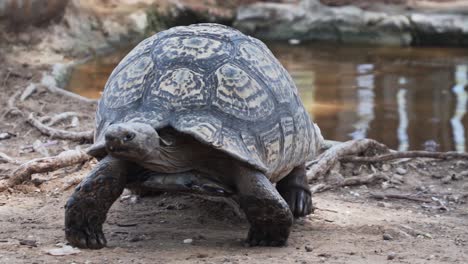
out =
[[[292,75],[325,138],[367,137],[400,150],[466,150],[468,49],[268,46]],[[100,97],[127,52],[78,66],[68,88]]]

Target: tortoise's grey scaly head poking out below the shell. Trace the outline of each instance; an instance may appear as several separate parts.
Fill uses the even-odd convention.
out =
[[[159,153],[159,135],[148,124],[110,125],[105,131],[104,138],[107,153],[116,158],[138,161],[148,157],[148,155]]]

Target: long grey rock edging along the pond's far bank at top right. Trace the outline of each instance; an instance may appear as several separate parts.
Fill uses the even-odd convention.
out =
[[[466,45],[468,15],[386,13],[355,6],[329,7],[319,0],[300,4],[254,3],[238,8],[234,26],[270,40],[325,40],[382,45]]]

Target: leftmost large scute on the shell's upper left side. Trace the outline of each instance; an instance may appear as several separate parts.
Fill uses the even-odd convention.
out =
[[[108,108],[119,108],[140,99],[144,81],[153,70],[150,56],[140,56],[107,81],[104,103]]]

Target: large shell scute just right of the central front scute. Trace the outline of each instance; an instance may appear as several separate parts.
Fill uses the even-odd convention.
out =
[[[274,102],[267,88],[233,64],[225,64],[215,72],[217,87],[213,105],[244,120],[270,116]]]

